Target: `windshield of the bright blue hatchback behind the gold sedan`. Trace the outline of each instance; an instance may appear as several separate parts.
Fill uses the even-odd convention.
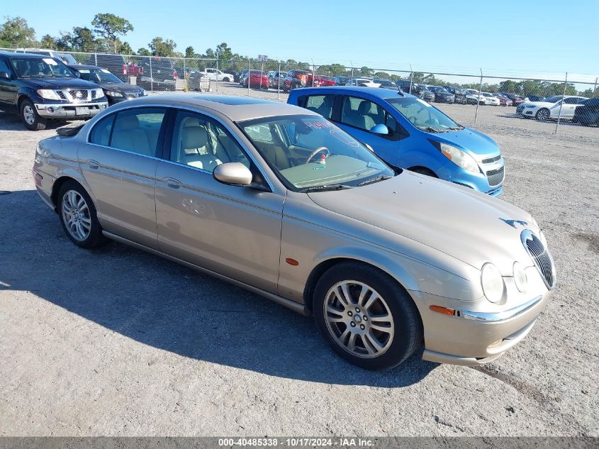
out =
[[[386,99],[395,109],[407,118],[416,128],[430,133],[442,133],[453,129],[462,129],[451,118],[435,106],[413,96]]]

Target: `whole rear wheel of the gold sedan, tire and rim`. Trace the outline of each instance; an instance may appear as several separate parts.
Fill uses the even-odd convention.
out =
[[[57,209],[62,229],[75,245],[91,249],[106,243],[94,202],[81,184],[74,181],[62,184]]]

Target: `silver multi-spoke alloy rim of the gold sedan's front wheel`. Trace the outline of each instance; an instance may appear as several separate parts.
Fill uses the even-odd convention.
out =
[[[352,355],[379,357],[391,346],[395,333],[391,309],[369,285],[337,282],[329,289],[323,306],[328,331]]]

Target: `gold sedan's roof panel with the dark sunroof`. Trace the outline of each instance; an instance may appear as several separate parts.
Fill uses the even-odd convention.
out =
[[[126,104],[127,106],[143,106],[145,104],[152,104],[152,106],[195,106],[199,110],[211,109],[223,113],[232,121],[247,121],[253,120],[254,118],[291,116],[297,114],[303,116],[318,116],[318,113],[291,104],[233,95],[150,95],[125,101],[123,104]]]

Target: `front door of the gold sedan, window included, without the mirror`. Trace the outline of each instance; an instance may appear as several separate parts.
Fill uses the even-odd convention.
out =
[[[284,195],[260,181],[237,187],[214,179],[223,162],[242,162],[263,179],[220,121],[179,110],[156,172],[159,249],[269,292],[279,277]]]

